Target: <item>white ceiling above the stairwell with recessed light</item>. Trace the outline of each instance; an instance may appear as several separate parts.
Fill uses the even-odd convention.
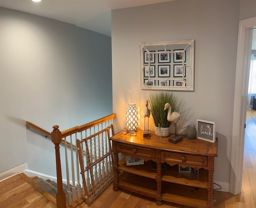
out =
[[[0,0],[0,6],[111,36],[111,10],[169,1],[172,0]]]

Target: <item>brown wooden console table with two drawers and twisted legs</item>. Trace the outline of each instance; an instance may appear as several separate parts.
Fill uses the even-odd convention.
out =
[[[114,152],[114,191],[123,188],[149,196],[156,199],[157,205],[162,205],[164,200],[200,208],[214,207],[213,172],[218,138],[212,143],[184,136],[181,142],[172,144],[168,137],[160,138],[154,132],[148,138],[143,138],[142,130],[136,133],[129,136],[119,132],[110,138]],[[126,157],[118,162],[118,153],[143,158],[144,164],[126,166]],[[156,170],[152,169],[151,160],[156,162]],[[161,168],[164,162],[170,165],[166,170]],[[179,166],[199,170],[199,178],[179,172]]]

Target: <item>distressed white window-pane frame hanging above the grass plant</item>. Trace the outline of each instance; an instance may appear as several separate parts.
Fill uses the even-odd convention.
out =
[[[180,50],[179,52],[182,52],[182,53],[187,53],[187,55],[189,56],[189,61],[187,60],[187,62],[189,62],[189,64],[186,64],[184,62],[184,56],[183,56],[183,59],[182,59],[182,62],[180,62],[181,66],[186,66],[186,74],[190,74],[190,78],[188,79],[188,76],[186,77],[186,79],[184,78],[184,73],[183,73],[183,76],[182,77],[164,77],[164,79],[162,77],[148,77],[148,79],[150,80],[155,80],[155,83],[158,83],[156,82],[156,80],[166,80],[166,81],[183,81],[185,82],[186,84],[184,86],[149,86],[147,85],[145,82],[144,82],[144,69],[145,67],[150,67],[151,64],[153,65],[153,63],[150,63],[150,60],[148,61],[148,63],[145,63],[144,62],[144,54],[145,54],[145,51],[149,54],[161,54],[163,53],[168,53],[170,54],[170,57],[171,57],[171,54],[174,54],[174,53],[177,53],[178,51],[175,49],[172,50],[172,51],[168,51],[169,49],[167,48],[168,46],[175,46],[176,48],[180,48],[183,46],[184,49],[183,50]],[[152,47],[156,47],[156,50],[152,49]],[[159,50],[157,49],[160,48]],[[190,53],[188,54],[188,48],[190,49]],[[158,60],[158,59],[157,59]],[[175,62],[176,63],[176,62]],[[146,65],[147,64],[147,65]],[[172,60],[171,61],[171,64],[174,64],[174,61]],[[158,69],[158,66],[160,65],[164,65],[164,63],[158,63],[154,62],[154,66],[156,69]],[[170,66],[170,68],[173,69],[172,66]],[[190,69],[190,70],[189,70]],[[170,72],[170,74],[173,74]],[[140,86],[141,86],[141,89],[143,90],[177,90],[177,91],[194,91],[194,40],[174,40],[174,41],[158,41],[158,42],[144,42],[144,43],[140,43]]]

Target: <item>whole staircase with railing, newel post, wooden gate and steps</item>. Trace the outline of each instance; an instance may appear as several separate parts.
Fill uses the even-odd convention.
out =
[[[60,131],[59,126],[55,125],[51,133],[26,122],[27,126],[52,138],[55,146],[58,186],[54,182],[44,181],[38,177],[30,179],[25,174],[23,175],[24,180],[58,208],[76,207],[83,202],[90,206],[114,178],[113,154],[109,140],[114,135],[114,118],[116,118],[116,114],[110,114],[64,131]],[[69,190],[63,189],[66,185],[62,184],[60,148],[62,152],[65,151],[65,156],[62,159],[66,162],[65,180],[72,184],[72,188],[69,186]],[[81,186],[84,188],[83,194]],[[73,197],[71,197],[71,190]],[[66,194],[65,191],[67,191]]]

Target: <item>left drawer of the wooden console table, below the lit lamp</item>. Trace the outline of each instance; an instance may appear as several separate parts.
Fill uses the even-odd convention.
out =
[[[138,158],[139,157],[155,158],[155,150],[150,148],[143,148],[143,147],[133,146],[129,144],[117,143],[117,150],[119,152],[136,155],[138,156]]]

